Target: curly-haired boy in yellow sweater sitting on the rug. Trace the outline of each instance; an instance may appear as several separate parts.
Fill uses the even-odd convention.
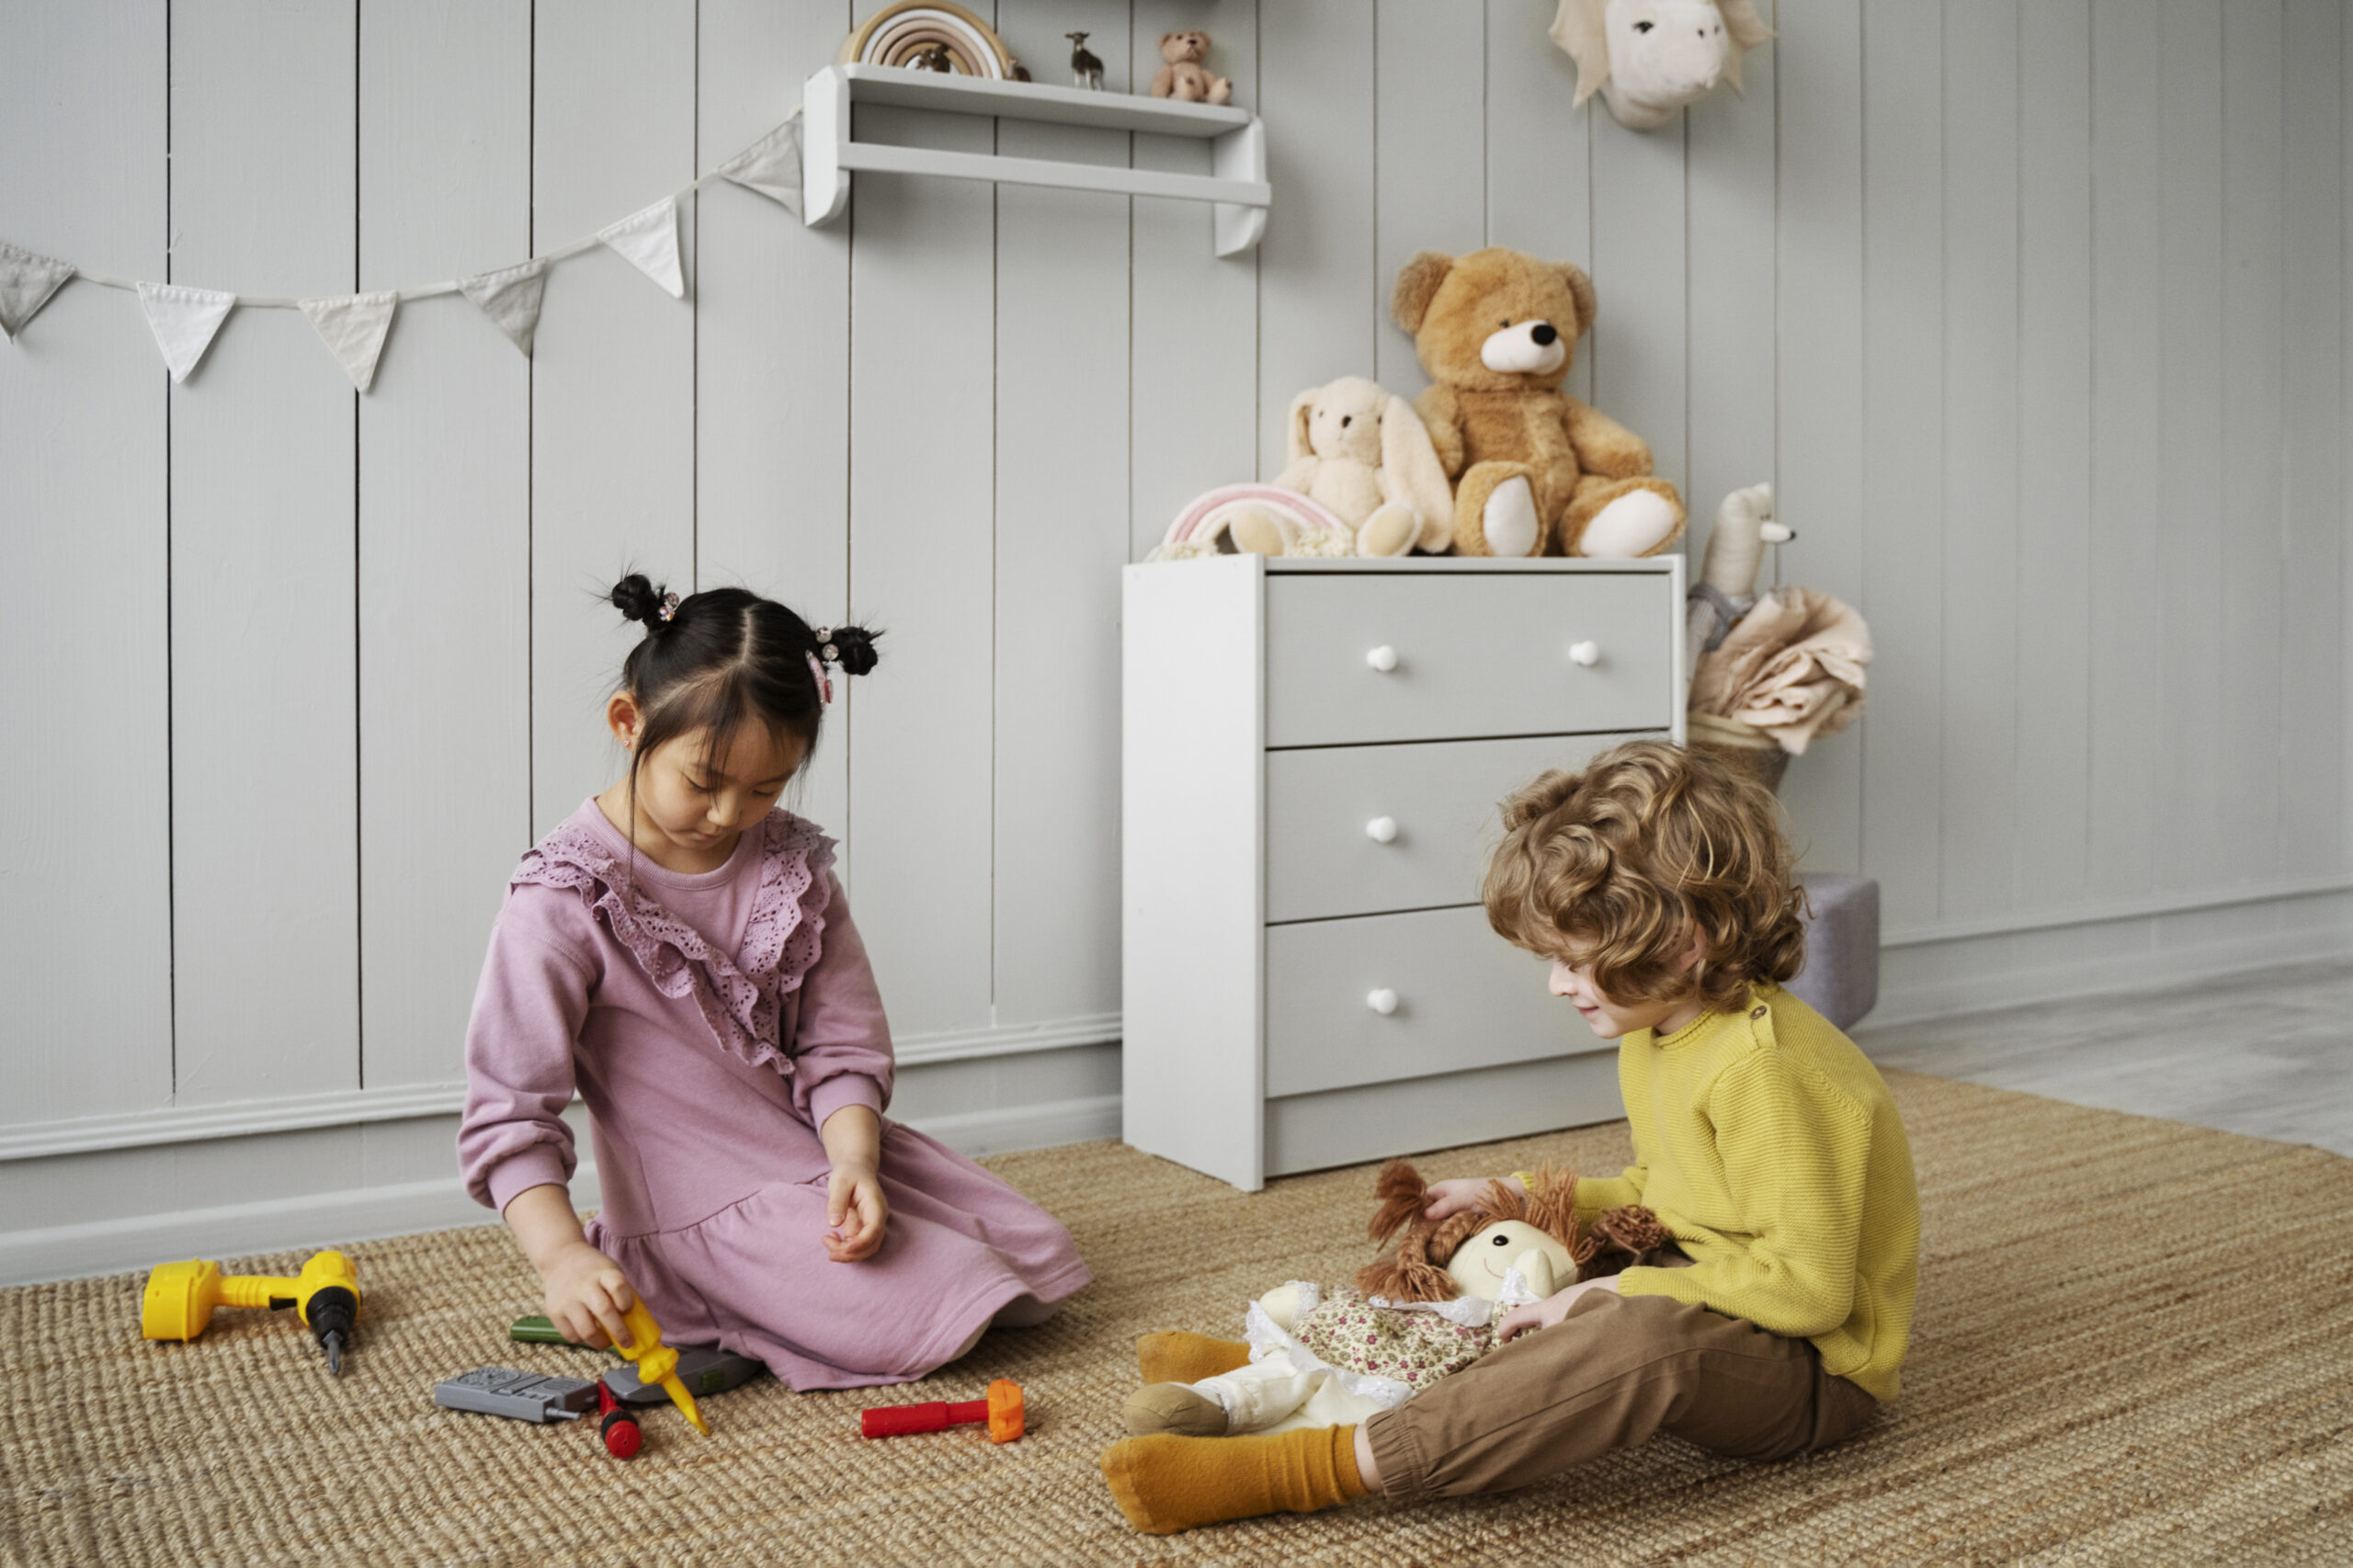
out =
[[[1487,921],[1621,1041],[1635,1163],[1579,1182],[1577,1215],[1642,1203],[1673,1245],[1515,1307],[1492,1354],[1362,1427],[1113,1443],[1104,1479],[1134,1528],[1511,1490],[1654,1431],[1786,1460],[1894,1398],[1920,1283],[1911,1147],[1864,1052],[1781,989],[1805,925],[1772,793],[1631,742],[1539,777],[1504,826]],[[1435,1182],[1426,1212],[1489,1180]],[[1148,1335],[1141,1358],[1146,1380],[1191,1382],[1249,1347]]]

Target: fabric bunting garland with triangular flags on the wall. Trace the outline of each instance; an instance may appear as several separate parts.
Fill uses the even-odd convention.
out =
[[[162,353],[165,370],[179,384],[205,360],[205,351],[212,348],[212,339],[221,332],[221,323],[228,320],[231,311],[301,311],[327,346],[327,353],[334,356],[334,363],[365,393],[376,379],[376,363],[384,358],[384,344],[393,332],[393,318],[400,306],[409,299],[433,294],[464,294],[529,358],[532,341],[539,334],[539,304],[546,297],[548,268],[598,245],[635,266],[671,299],[685,299],[687,275],[678,252],[678,202],[713,179],[758,191],[793,217],[800,217],[800,111],[795,108],[784,125],[692,186],[598,228],[586,240],[572,240],[529,261],[449,283],[428,283],[414,290],[374,290],[367,294],[327,294],[315,299],[231,294],[184,283],[139,283],[85,273],[71,261],[42,257],[40,252],[0,240],[0,334],[16,341],[26,323],[40,315],[56,290],[71,280],[127,290],[139,297],[139,308],[155,334],[155,348]]]

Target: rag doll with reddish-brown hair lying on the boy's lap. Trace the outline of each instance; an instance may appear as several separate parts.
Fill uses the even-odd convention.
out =
[[[1492,1182],[1475,1208],[1424,1220],[1428,1184],[1405,1161],[1381,1168],[1367,1227],[1398,1245],[1325,1290],[1292,1281],[1249,1304],[1249,1366],[1136,1389],[1132,1436],[1228,1436],[1353,1424],[1494,1349],[1504,1309],[1541,1302],[1638,1262],[1682,1262],[1647,1208],[1614,1208],[1577,1231],[1577,1177],[1546,1165],[1522,1194]],[[1240,1349],[1240,1347],[1235,1347]]]

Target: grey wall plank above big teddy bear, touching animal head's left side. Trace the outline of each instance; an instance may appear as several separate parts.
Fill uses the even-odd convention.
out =
[[[1487,0],[1487,245],[1591,271],[1593,120],[1607,111],[1574,106],[1577,64],[1546,35],[1555,9]],[[1591,348],[1560,386],[1572,398],[1593,398]]]

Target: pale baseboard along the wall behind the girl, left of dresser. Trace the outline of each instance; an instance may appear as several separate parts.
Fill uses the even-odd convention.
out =
[[[995,1111],[927,1116],[908,1125],[962,1154],[1012,1154],[1120,1135],[1120,1097],[1056,1099]],[[598,1205],[595,1165],[572,1175],[572,1201]],[[351,1187],[261,1203],[96,1220],[40,1231],[0,1231],[0,1285],[146,1271],[174,1257],[252,1257],[409,1236],[456,1224],[496,1224],[456,1177]]]

